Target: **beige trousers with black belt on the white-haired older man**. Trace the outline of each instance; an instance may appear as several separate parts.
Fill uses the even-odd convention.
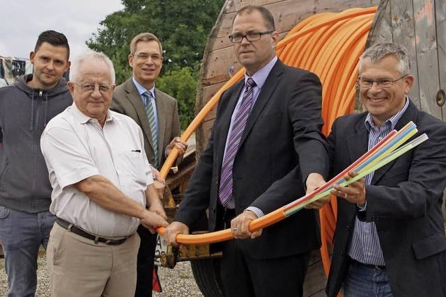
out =
[[[138,248],[136,233],[118,246],[108,246],[54,223],[47,248],[51,296],[134,296]]]

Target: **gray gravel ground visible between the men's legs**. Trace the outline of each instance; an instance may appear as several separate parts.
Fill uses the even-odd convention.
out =
[[[5,260],[0,259],[0,297],[8,294],[8,279],[4,270]],[[180,262],[175,269],[160,268],[158,271],[160,275],[162,293],[155,293],[153,296],[160,297],[186,297],[186,296],[203,296],[195,283],[190,262]],[[49,294],[49,278],[47,271],[47,262],[45,255],[38,258],[37,271],[37,291],[36,296],[50,297]]]

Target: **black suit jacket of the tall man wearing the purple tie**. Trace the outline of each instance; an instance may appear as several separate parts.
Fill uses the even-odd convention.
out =
[[[209,145],[199,159],[175,220],[192,225],[208,209],[209,230],[222,227],[222,214],[217,211],[220,170],[231,115],[244,84],[240,81],[222,95]],[[322,125],[318,77],[277,61],[249,115],[233,163],[236,214],[249,206],[268,214],[304,195],[302,180],[309,173],[328,174]],[[258,259],[318,248],[316,212],[300,211],[266,228],[258,239],[244,240],[243,245]]]

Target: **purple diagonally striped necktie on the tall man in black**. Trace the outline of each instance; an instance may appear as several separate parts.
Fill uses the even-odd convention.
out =
[[[232,199],[232,166],[240,145],[243,130],[245,130],[246,122],[249,113],[251,112],[252,88],[255,86],[256,83],[252,78],[247,79],[245,84],[245,94],[243,95],[240,108],[236,113],[236,118],[234,118],[226,154],[224,154],[222,172],[220,174],[220,188],[218,191],[218,197],[224,207]]]

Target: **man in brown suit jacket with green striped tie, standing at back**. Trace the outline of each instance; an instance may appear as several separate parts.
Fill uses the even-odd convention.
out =
[[[117,86],[113,93],[110,109],[130,116],[144,135],[144,150],[148,162],[157,178],[157,188],[160,183],[157,169],[171,152],[178,148],[181,158],[187,144],[180,140],[180,122],[176,99],[155,88],[155,81],[162,67],[162,46],[160,40],[151,33],[140,33],[130,42],[128,56],[132,77]],[[162,214],[165,216],[165,214]],[[137,289],[135,296],[151,296],[152,271],[155,257],[156,234],[151,234],[140,225],[138,234],[141,237],[137,262]]]

